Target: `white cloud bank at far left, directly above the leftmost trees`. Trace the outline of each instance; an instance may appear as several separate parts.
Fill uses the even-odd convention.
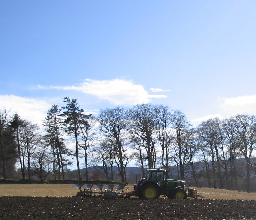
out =
[[[22,119],[39,126],[42,125],[42,120],[52,105],[42,99],[23,98],[14,95],[0,95],[0,103],[0,108],[5,107],[10,110],[10,116],[17,112]]]

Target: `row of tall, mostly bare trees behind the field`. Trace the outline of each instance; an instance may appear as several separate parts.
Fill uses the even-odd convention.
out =
[[[243,179],[247,192],[255,190],[251,186],[256,177],[254,115],[211,118],[193,128],[182,111],[167,105],[119,106],[103,109],[95,117],[85,114],[77,99],[65,97],[63,103],[48,110],[43,130],[18,113],[11,116],[6,108],[0,109],[3,180],[15,169],[23,179],[37,174],[44,181],[52,173],[65,180],[75,158],[79,180],[88,180],[88,167],[94,166],[107,180],[113,180],[113,167],[118,167],[121,182],[127,182],[126,167],[135,161],[143,176],[145,168],[169,170],[176,165],[177,178],[184,180],[189,172],[195,186],[204,178],[208,187],[239,189]],[[236,162],[239,158],[246,162],[242,168]]]

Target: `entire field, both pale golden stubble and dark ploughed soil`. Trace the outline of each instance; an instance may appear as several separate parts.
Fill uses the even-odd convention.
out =
[[[77,197],[72,186],[0,184],[0,219],[256,220],[256,193],[196,188],[204,199],[103,199]]]

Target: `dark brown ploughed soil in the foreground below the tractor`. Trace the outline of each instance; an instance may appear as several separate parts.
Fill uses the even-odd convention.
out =
[[[256,200],[0,197],[1,220],[256,219]]]

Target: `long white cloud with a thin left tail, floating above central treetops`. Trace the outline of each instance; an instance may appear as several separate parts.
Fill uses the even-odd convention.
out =
[[[41,85],[40,89],[44,89]],[[138,103],[149,103],[151,98],[166,98],[165,95],[149,95],[142,85],[133,84],[132,81],[113,80],[91,80],[78,86],[51,86],[48,88],[62,90],[78,90],[82,93],[94,95],[99,99],[108,100],[115,105],[135,105]]]

